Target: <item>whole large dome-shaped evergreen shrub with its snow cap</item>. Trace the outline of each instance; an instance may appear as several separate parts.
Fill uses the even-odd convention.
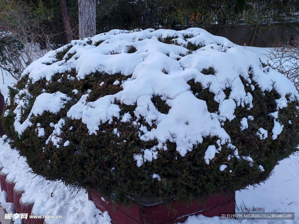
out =
[[[116,203],[191,201],[264,182],[295,153],[297,97],[205,30],[112,30],[29,65],[2,122],[48,180]]]

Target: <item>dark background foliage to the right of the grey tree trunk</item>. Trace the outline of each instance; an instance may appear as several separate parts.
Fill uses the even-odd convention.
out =
[[[179,30],[239,23],[256,27],[271,21],[289,22],[298,10],[299,3],[291,0],[103,0],[97,4],[97,30],[149,27]]]

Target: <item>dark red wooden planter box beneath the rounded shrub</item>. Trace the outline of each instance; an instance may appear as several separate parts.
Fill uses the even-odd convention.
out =
[[[116,224],[173,224],[184,222],[189,215],[202,214],[207,217],[219,216],[221,213],[235,213],[235,195],[219,194],[208,199],[205,204],[194,202],[187,207],[183,202],[173,202],[177,213],[168,210],[164,204],[138,206],[133,204],[122,207],[112,201],[106,201],[95,191],[88,192],[89,200],[93,201],[100,211],[108,211],[113,223]]]

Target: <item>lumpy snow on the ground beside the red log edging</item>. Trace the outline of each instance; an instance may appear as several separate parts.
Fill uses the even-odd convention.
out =
[[[2,139],[0,142],[2,143]],[[72,190],[63,183],[48,182],[43,178],[34,177],[34,174],[28,172],[30,168],[25,158],[19,158],[18,153],[12,151],[7,144],[0,146],[0,161],[1,166],[4,167],[1,172],[8,173],[9,181],[16,182],[16,189],[25,191],[22,194],[22,201],[34,203],[32,209],[34,215],[62,216],[59,221],[46,220],[47,224],[110,224],[108,212],[102,214],[97,210],[94,203],[88,200],[85,191],[72,193]],[[0,203],[5,203],[2,194],[3,192]],[[4,205],[7,206],[7,203]]]

